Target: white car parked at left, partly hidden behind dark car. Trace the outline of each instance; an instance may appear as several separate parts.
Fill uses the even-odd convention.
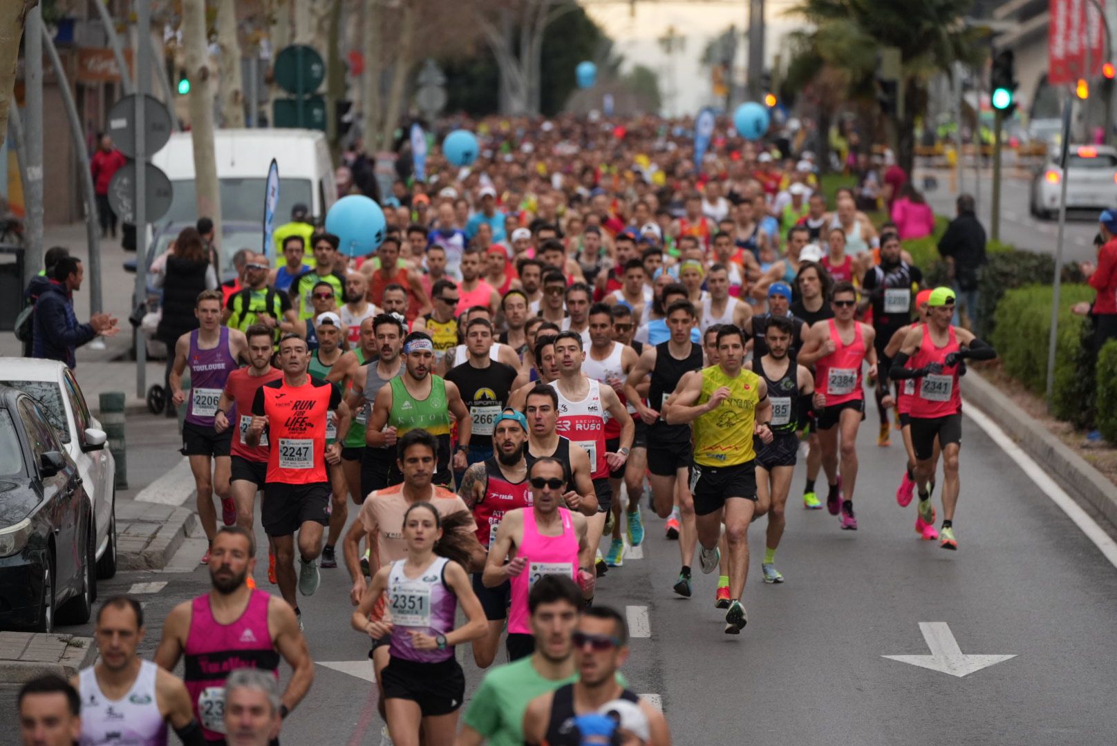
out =
[[[74,372],[54,360],[0,357],[0,384],[38,400],[74,462],[93,503],[97,529],[97,577],[116,574],[116,460],[107,434],[85,403]]]

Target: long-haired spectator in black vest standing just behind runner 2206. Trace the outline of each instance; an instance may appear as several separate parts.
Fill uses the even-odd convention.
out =
[[[202,290],[217,289],[217,272],[206,258],[206,242],[197,228],[183,228],[168,252],[166,262],[155,276],[155,287],[163,288],[163,314],[155,337],[166,345],[166,376],[174,364],[174,344],[187,332],[198,328],[194,306]],[[164,376],[166,390],[170,384]],[[168,417],[174,408],[168,402]]]

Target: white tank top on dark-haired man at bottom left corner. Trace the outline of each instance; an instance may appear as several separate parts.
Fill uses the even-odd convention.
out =
[[[140,661],[140,675],[122,699],[108,699],[101,691],[94,667],[78,675],[82,696],[82,746],[165,746],[166,721],[155,698],[159,667]]]

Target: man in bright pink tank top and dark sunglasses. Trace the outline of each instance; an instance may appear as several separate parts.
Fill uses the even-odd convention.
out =
[[[508,660],[526,658],[535,651],[528,621],[528,593],[541,577],[562,575],[577,580],[582,597],[593,599],[593,545],[589,522],[558,503],[566,492],[563,465],[550,456],[535,459],[527,472],[532,506],[508,510],[489,546],[481,576],[490,589],[505,582],[510,586]],[[505,562],[505,558],[509,558]]]

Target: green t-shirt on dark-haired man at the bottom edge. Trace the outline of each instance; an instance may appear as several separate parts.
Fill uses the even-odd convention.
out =
[[[528,702],[577,681],[577,673],[556,681],[544,679],[532,666],[533,658],[528,656],[486,673],[469,702],[465,724],[484,736],[489,746],[523,746],[524,712]],[[620,672],[617,682],[628,686]]]

